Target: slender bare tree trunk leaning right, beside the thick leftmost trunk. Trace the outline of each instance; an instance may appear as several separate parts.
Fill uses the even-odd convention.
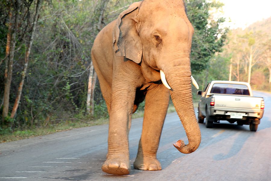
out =
[[[34,35],[35,35],[36,25],[37,25],[37,22],[38,22],[39,9],[40,9],[41,2],[42,2],[42,0],[37,0],[36,13],[35,13],[35,16],[34,16],[33,27],[32,27],[32,30],[31,30],[30,37],[29,37],[29,41],[27,42],[27,49],[26,49],[26,52],[25,52],[22,79],[21,79],[21,82],[20,82],[19,87],[18,87],[17,97],[16,97],[16,100],[15,100],[15,103],[14,103],[14,106],[13,106],[13,109],[12,109],[12,112],[11,112],[11,116],[10,116],[11,118],[14,118],[14,116],[15,116],[15,114],[17,112],[19,103],[20,103],[21,94],[22,94],[22,90],[23,90],[23,83],[24,83],[24,79],[25,79],[25,76],[26,76],[27,66],[28,66],[28,62],[29,62],[29,55],[30,55],[31,46],[32,46],[32,43],[33,43]]]

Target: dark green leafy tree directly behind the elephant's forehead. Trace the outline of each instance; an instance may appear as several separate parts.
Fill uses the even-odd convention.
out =
[[[210,59],[222,51],[227,28],[221,28],[220,25],[225,19],[215,19],[210,14],[210,10],[222,6],[223,4],[215,1],[186,0],[188,19],[195,29],[191,49],[192,73],[208,69]]]

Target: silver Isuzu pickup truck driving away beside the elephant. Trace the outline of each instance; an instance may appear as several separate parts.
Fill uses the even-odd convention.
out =
[[[238,125],[249,125],[257,131],[263,117],[264,100],[253,97],[250,84],[237,81],[212,81],[205,90],[198,91],[201,99],[198,104],[198,122],[212,128],[213,123],[226,120]]]

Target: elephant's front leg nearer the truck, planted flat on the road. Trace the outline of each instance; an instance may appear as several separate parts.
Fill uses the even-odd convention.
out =
[[[146,94],[142,135],[134,162],[136,169],[162,169],[156,153],[167,114],[169,97],[169,90],[163,84],[150,87]]]

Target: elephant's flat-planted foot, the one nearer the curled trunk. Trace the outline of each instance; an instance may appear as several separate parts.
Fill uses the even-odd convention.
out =
[[[162,170],[160,162],[155,158],[137,156],[134,167],[139,170]]]

